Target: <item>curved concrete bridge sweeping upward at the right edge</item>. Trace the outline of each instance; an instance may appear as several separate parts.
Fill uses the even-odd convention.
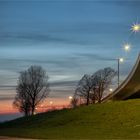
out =
[[[102,102],[133,98],[140,98],[140,54],[128,77],[116,90],[105,97]]]

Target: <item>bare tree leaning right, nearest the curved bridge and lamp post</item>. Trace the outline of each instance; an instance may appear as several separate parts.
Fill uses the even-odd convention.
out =
[[[91,76],[92,89],[94,91],[94,97],[101,103],[103,93],[111,84],[112,79],[116,75],[116,71],[110,67],[101,69]]]

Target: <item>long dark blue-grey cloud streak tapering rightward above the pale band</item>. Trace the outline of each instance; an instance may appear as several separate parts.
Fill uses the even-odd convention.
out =
[[[74,38],[65,37],[65,34],[58,37],[53,35],[46,35],[46,34],[38,34],[38,33],[0,33],[0,40],[3,41],[3,39],[22,39],[22,40],[28,40],[28,41],[34,41],[34,42],[53,42],[53,43],[64,43],[64,44],[89,44],[88,41],[82,41],[82,40],[76,40]]]

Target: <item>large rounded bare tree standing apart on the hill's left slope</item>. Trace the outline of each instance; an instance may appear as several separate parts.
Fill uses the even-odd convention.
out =
[[[14,106],[25,115],[34,114],[35,108],[49,94],[48,76],[40,66],[31,66],[20,73]]]

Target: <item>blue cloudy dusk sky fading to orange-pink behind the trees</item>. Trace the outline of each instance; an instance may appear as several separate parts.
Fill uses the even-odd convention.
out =
[[[19,72],[31,65],[49,76],[45,104],[67,104],[84,74],[117,68],[112,58],[125,58],[123,81],[140,50],[140,33],[130,30],[139,13],[135,0],[0,0],[0,113],[17,112],[12,102]]]

